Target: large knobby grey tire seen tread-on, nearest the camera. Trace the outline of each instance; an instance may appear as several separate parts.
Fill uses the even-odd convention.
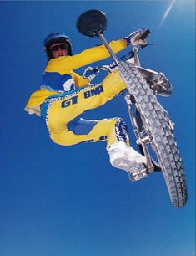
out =
[[[187,202],[187,182],[168,115],[133,64],[123,61],[118,69],[129,94],[136,100],[144,128],[152,137],[151,146],[161,166],[173,207],[181,208]]]

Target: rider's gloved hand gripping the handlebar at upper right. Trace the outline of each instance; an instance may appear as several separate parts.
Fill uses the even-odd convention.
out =
[[[128,37],[123,38],[127,45],[146,45],[147,40],[141,39],[143,33],[145,33],[148,29],[139,29],[128,35]]]

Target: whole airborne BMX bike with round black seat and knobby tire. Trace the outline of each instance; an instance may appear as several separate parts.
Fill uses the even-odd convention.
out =
[[[138,50],[143,47],[141,45],[134,46],[132,52],[118,60],[103,36],[106,24],[105,13],[89,10],[80,15],[77,28],[83,35],[100,38],[113,58],[113,64],[99,67],[97,72],[100,69],[112,72],[117,68],[127,85],[128,113],[136,142],[147,159],[146,169],[135,175],[129,174],[129,178],[138,181],[151,172],[162,172],[173,207],[181,208],[186,204],[188,194],[183,161],[173,136],[174,124],[157,99],[157,95],[170,95],[172,85],[162,73],[140,66]],[[147,30],[141,39],[147,38],[149,33]]]

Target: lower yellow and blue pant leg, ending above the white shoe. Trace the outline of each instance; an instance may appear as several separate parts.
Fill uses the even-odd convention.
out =
[[[79,118],[68,123],[63,131],[51,131],[55,143],[70,146],[81,142],[107,141],[108,147],[123,141],[129,144],[125,123],[121,118],[84,120]]]

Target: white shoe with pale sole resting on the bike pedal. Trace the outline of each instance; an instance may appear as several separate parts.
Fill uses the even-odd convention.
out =
[[[123,141],[119,141],[108,148],[110,163],[112,166],[129,172],[132,180],[146,177],[146,158],[127,146]],[[136,178],[134,178],[136,177]]]

